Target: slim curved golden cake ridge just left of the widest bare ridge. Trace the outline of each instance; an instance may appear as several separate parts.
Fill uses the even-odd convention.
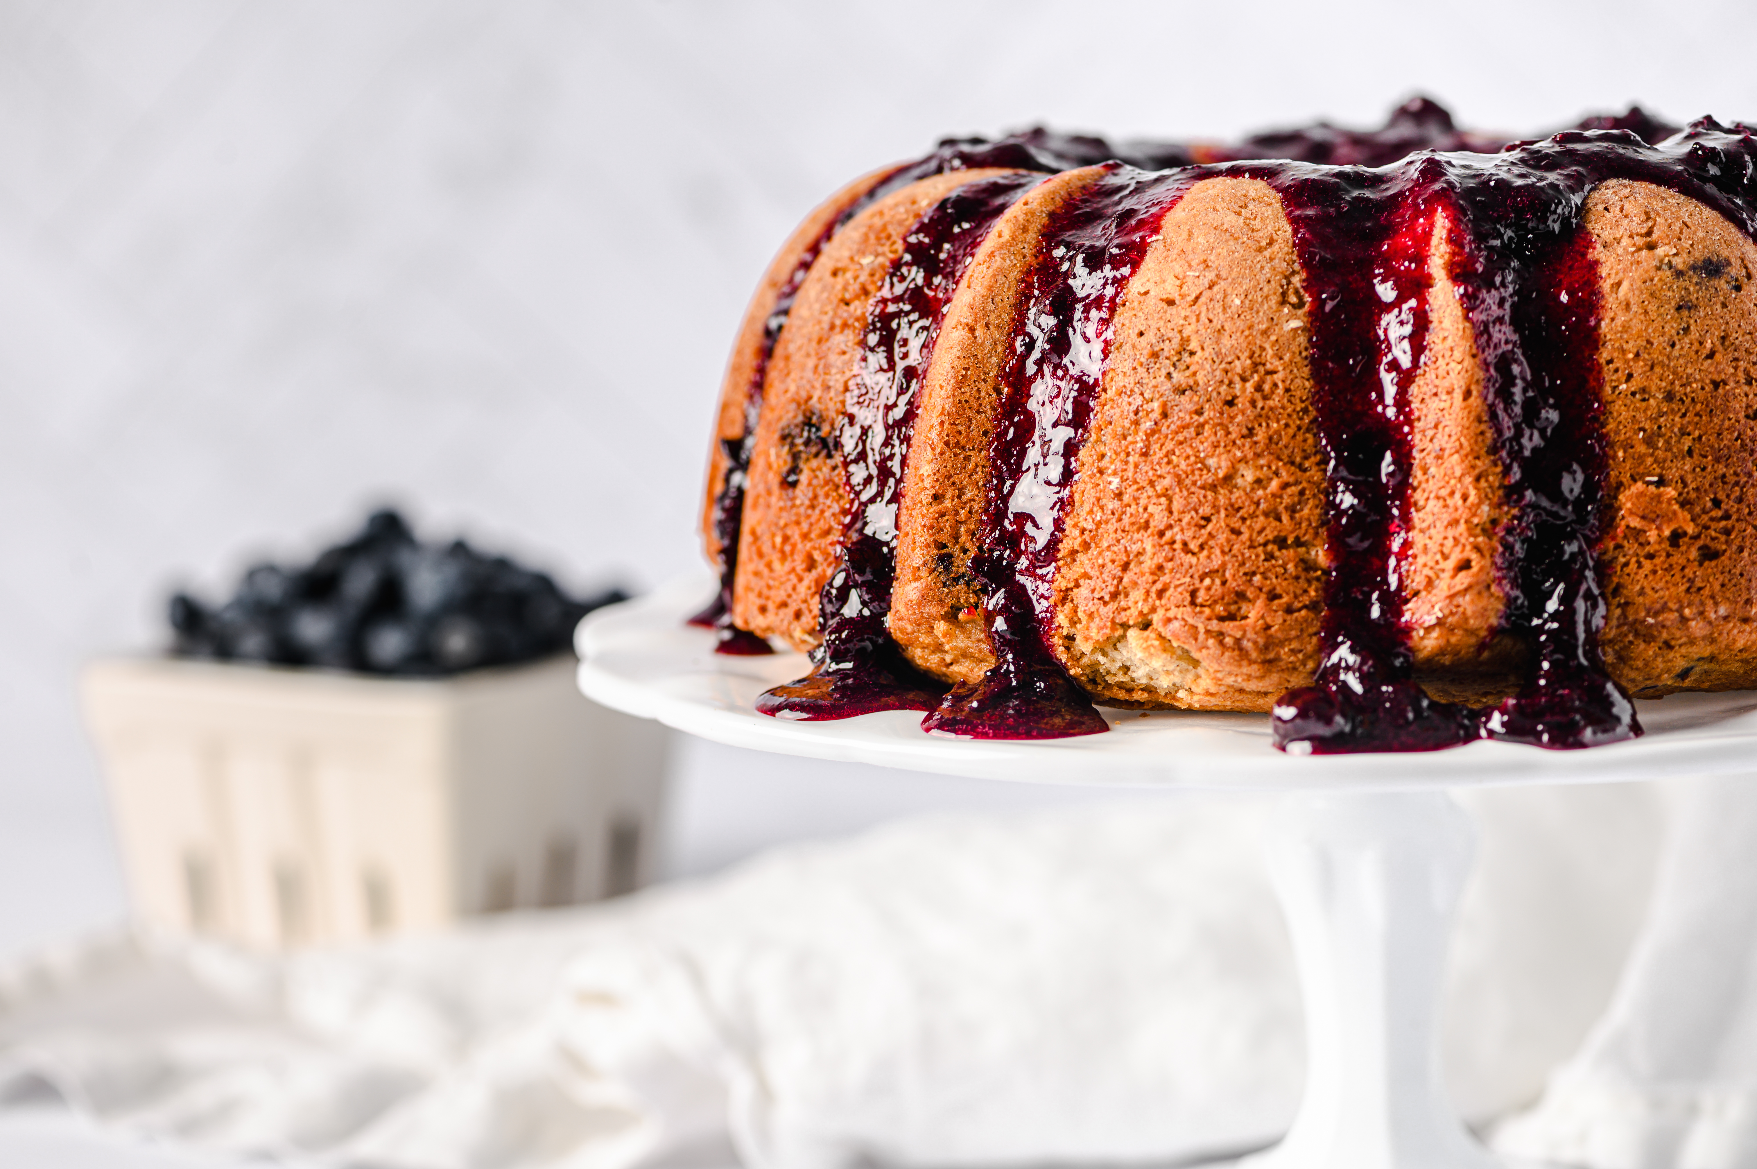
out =
[[[1102,167],[1065,171],[1001,214],[945,309],[922,378],[898,512],[889,624],[910,661],[949,682],[975,682],[994,664],[977,612],[982,592],[968,566],[987,497],[987,448],[1021,281],[1049,216],[1100,174]]]

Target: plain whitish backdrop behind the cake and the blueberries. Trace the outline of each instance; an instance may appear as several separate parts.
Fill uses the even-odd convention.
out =
[[[1757,118],[1752,44],[1731,4],[0,0],[0,955],[121,914],[76,677],[167,589],[387,499],[575,585],[689,566],[745,297],[850,176],[1414,91]],[[706,745],[678,779],[685,870],[1012,798]]]

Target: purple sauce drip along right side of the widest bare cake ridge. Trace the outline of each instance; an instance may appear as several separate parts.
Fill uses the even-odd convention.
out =
[[[1476,737],[1467,708],[1416,686],[1400,587],[1437,167],[1240,169],[1281,195],[1305,272],[1328,505],[1323,659],[1312,686],[1276,703],[1283,749],[1434,751]]]

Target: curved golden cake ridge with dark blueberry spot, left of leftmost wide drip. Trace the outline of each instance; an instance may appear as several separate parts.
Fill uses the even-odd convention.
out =
[[[821,640],[819,592],[849,506],[836,429],[866,309],[915,220],[958,186],[1000,174],[1010,171],[954,171],[886,195],[836,232],[799,287],[770,357],[750,459],[733,591],[740,628],[801,650]]]

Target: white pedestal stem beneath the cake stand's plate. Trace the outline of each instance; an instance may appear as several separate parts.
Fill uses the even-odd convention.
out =
[[[1249,1169],[1488,1169],[1439,1067],[1437,1009],[1476,828],[1444,791],[1290,795],[1270,875],[1305,998],[1293,1129]]]

